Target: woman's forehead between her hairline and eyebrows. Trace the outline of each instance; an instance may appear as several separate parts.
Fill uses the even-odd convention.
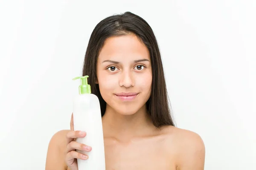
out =
[[[105,59],[119,60],[124,59],[150,59],[148,48],[140,39],[133,35],[123,35],[109,37],[99,53],[99,61]]]

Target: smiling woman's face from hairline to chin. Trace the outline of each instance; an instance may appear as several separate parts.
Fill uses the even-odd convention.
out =
[[[96,83],[107,107],[123,115],[136,113],[151,95],[148,48],[133,34],[108,38],[99,53]]]

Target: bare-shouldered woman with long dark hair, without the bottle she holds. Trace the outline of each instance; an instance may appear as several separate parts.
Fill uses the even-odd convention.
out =
[[[148,23],[125,12],[102,20],[93,30],[83,76],[100,100],[106,170],[204,170],[205,147],[192,131],[175,127],[171,117],[157,40]],[[46,170],[77,170],[74,141],[86,132],[52,136]]]

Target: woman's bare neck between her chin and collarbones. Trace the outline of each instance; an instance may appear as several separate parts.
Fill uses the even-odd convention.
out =
[[[127,141],[138,136],[148,136],[156,130],[147,113],[146,105],[132,115],[122,115],[107,104],[102,117],[102,126],[105,131],[104,136],[120,141]]]

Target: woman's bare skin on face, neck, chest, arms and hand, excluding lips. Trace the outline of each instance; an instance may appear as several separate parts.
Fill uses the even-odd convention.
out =
[[[149,51],[133,34],[110,37],[100,51],[97,80],[107,103],[102,126],[106,170],[204,170],[205,146],[192,131],[173,126],[154,127],[145,103],[151,92]],[[138,93],[131,101],[116,94]],[[46,170],[78,170],[77,159],[90,159],[76,149],[90,146],[74,139],[86,132],[61,130],[49,142]],[[84,157],[85,156],[85,157]]]

